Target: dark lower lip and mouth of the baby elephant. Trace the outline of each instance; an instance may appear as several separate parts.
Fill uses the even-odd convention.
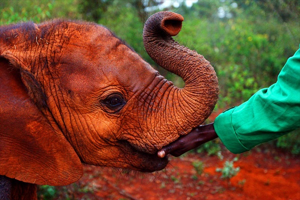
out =
[[[156,153],[140,151],[126,140],[120,140],[118,143],[124,153],[128,168],[141,172],[153,172],[162,170],[168,163],[167,156],[159,158]]]

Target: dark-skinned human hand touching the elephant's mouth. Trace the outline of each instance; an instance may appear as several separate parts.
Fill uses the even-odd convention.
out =
[[[217,137],[218,136],[214,131],[213,123],[199,125],[198,127],[192,129],[190,133],[181,136],[172,143],[162,147],[162,149],[157,152],[157,156],[162,158],[170,153],[171,155],[177,157]]]

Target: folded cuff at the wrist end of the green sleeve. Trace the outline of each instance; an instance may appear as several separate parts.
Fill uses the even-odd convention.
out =
[[[231,107],[219,114],[214,120],[213,127],[228,150],[232,153],[241,153],[250,149],[242,145],[236,136],[231,118],[234,109],[235,107]]]

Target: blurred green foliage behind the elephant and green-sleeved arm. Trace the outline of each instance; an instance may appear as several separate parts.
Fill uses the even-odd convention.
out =
[[[163,9],[184,16],[175,39],[203,54],[215,67],[220,87],[216,109],[237,105],[274,83],[286,59],[299,47],[299,0],[198,0],[191,7],[174,1],[180,6]],[[182,79],[157,66],[143,48],[143,23],[160,11],[158,5],[159,0],[1,0],[0,25],[57,17],[103,24],[182,87]],[[293,141],[293,152],[299,152],[299,140],[299,134],[290,134],[277,145],[287,147]]]

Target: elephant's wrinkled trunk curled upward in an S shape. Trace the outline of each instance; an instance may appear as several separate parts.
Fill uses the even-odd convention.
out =
[[[172,106],[164,111],[171,118],[165,120],[174,121],[175,117],[180,121],[176,125],[179,135],[186,134],[210,115],[218,95],[217,77],[209,61],[171,37],[180,31],[182,21],[180,14],[161,11],[150,16],[143,29],[144,47],[150,57],[185,82],[184,88],[172,86],[162,96],[172,101],[167,103]]]

